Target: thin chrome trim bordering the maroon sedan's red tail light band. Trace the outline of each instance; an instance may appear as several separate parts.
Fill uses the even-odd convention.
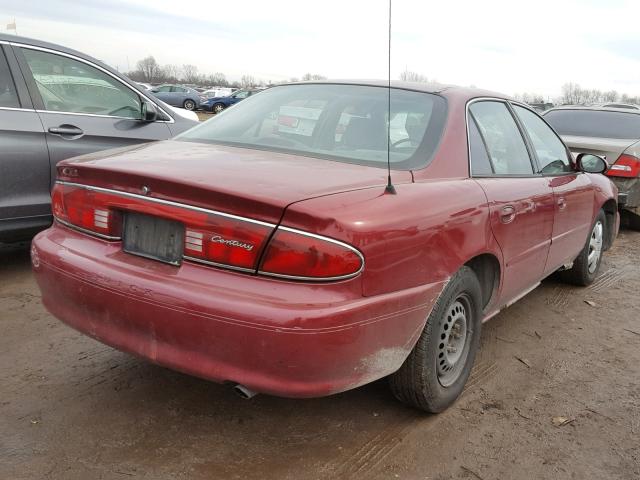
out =
[[[305,232],[304,230],[298,230],[297,228],[286,227],[286,226],[283,226],[283,225],[277,225],[275,223],[263,222],[261,220],[254,220],[252,218],[241,217],[239,215],[233,215],[231,213],[220,212],[218,210],[211,210],[211,209],[208,209],[208,208],[195,207],[195,206],[192,206],[192,205],[186,205],[184,203],[173,202],[171,200],[162,200],[162,199],[159,199],[159,198],[148,197],[148,196],[145,196],[145,195],[138,195],[136,193],[121,192],[119,190],[112,190],[110,188],[95,187],[93,185],[84,185],[84,184],[81,184],[81,183],[74,183],[74,182],[65,182],[63,180],[56,180],[56,184],[58,184],[58,185],[66,185],[66,186],[70,186],[70,187],[84,188],[86,190],[91,190],[91,191],[96,191],[96,192],[110,193],[110,194],[118,195],[118,196],[125,197],[125,198],[136,198],[136,199],[144,200],[144,201],[151,202],[151,203],[159,203],[159,204],[162,204],[162,205],[170,205],[170,206],[177,207],[177,208],[182,208],[182,209],[185,209],[185,210],[192,210],[192,211],[196,211],[196,212],[200,212],[200,213],[207,213],[207,214],[210,214],[210,215],[219,216],[219,217],[223,217],[223,218],[229,218],[229,219],[232,219],[232,220],[238,220],[238,221],[253,223],[255,225],[261,225],[261,226],[273,228],[274,230],[272,232],[270,232],[270,234],[272,234],[272,235],[275,235],[277,230],[283,230],[283,231],[286,231],[286,232],[296,233],[298,235],[303,235],[303,236],[306,236],[306,237],[317,238],[318,240],[323,240],[325,242],[329,242],[329,243],[334,243],[336,245],[340,245],[341,247],[346,248],[347,250],[350,250],[353,253],[355,253],[358,256],[358,258],[360,259],[360,268],[354,273],[350,273],[348,275],[340,275],[340,276],[337,276],[337,277],[305,277],[305,276],[284,275],[284,274],[280,274],[280,273],[265,272],[263,270],[260,270],[259,268],[258,269],[254,269],[254,268],[248,269],[248,268],[244,268],[244,267],[235,267],[233,265],[226,265],[226,264],[223,264],[223,263],[211,262],[211,261],[208,261],[208,260],[201,260],[199,258],[195,258],[195,257],[191,257],[191,256],[183,254],[182,258],[185,259],[185,260],[188,260],[188,261],[201,263],[201,264],[204,264],[204,265],[211,265],[211,266],[215,266],[215,267],[225,268],[225,269],[234,270],[234,271],[240,271],[240,272],[245,272],[245,273],[254,273],[254,274],[263,275],[263,276],[267,276],[267,277],[274,277],[274,278],[280,278],[280,279],[285,279],[285,280],[302,280],[302,281],[307,281],[307,282],[332,282],[332,281],[338,281],[338,280],[348,280],[350,278],[358,276],[364,270],[364,255],[360,252],[360,250],[358,250],[357,248],[349,245],[348,243],[341,242],[340,240],[336,240],[334,238],[325,237],[324,235],[318,235],[316,233]],[[62,223],[63,225],[66,225],[66,226],[68,226],[68,227],[70,227],[70,228],[72,228],[74,230],[78,230],[78,231],[81,231],[83,233],[87,233],[89,235],[94,235],[94,236],[103,238],[105,240],[121,240],[121,237],[110,237],[108,235],[104,235],[104,234],[100,234],[100,233],[94,233],[94,232],[91,232],[89,230],[83,229],[81,227],[76,227],[75,225],[70,225],[69,223],[64,222],[62,220],[59,220],[57,218],[56,218],[56,221]],[[265,248],[268,245],[269,245],[269,243],[267,243],[265,245]]]

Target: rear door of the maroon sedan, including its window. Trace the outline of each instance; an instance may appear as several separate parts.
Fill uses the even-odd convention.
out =
[[[510,105],[470,104],[471,175],[485,191],[491,228],[504,259],[502,302],[514,300],[544,277],[553,229],[553,189],[534,169]]]

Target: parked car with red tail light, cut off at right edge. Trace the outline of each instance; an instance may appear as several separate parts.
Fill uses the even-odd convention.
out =
[[[640,230],[640,110],[567,106],[548,110],[544,118],[572,152],[606,158],[607,175],[620,191],[623,221]]]

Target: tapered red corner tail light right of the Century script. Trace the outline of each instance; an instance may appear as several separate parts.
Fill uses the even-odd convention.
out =
[[[360,273],[364,260],[355,248],[336,240],[279,227],[259,273],[301,280],[336,280]]]

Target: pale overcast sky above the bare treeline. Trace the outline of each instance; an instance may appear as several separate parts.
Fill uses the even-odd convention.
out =
[[[386,78],[387,0],[0,0],[0,31],[119,70],[153,55],[280,81]],[[392,77],[555,96],[568,81],[640,94],[638,0],[393,1]]]

